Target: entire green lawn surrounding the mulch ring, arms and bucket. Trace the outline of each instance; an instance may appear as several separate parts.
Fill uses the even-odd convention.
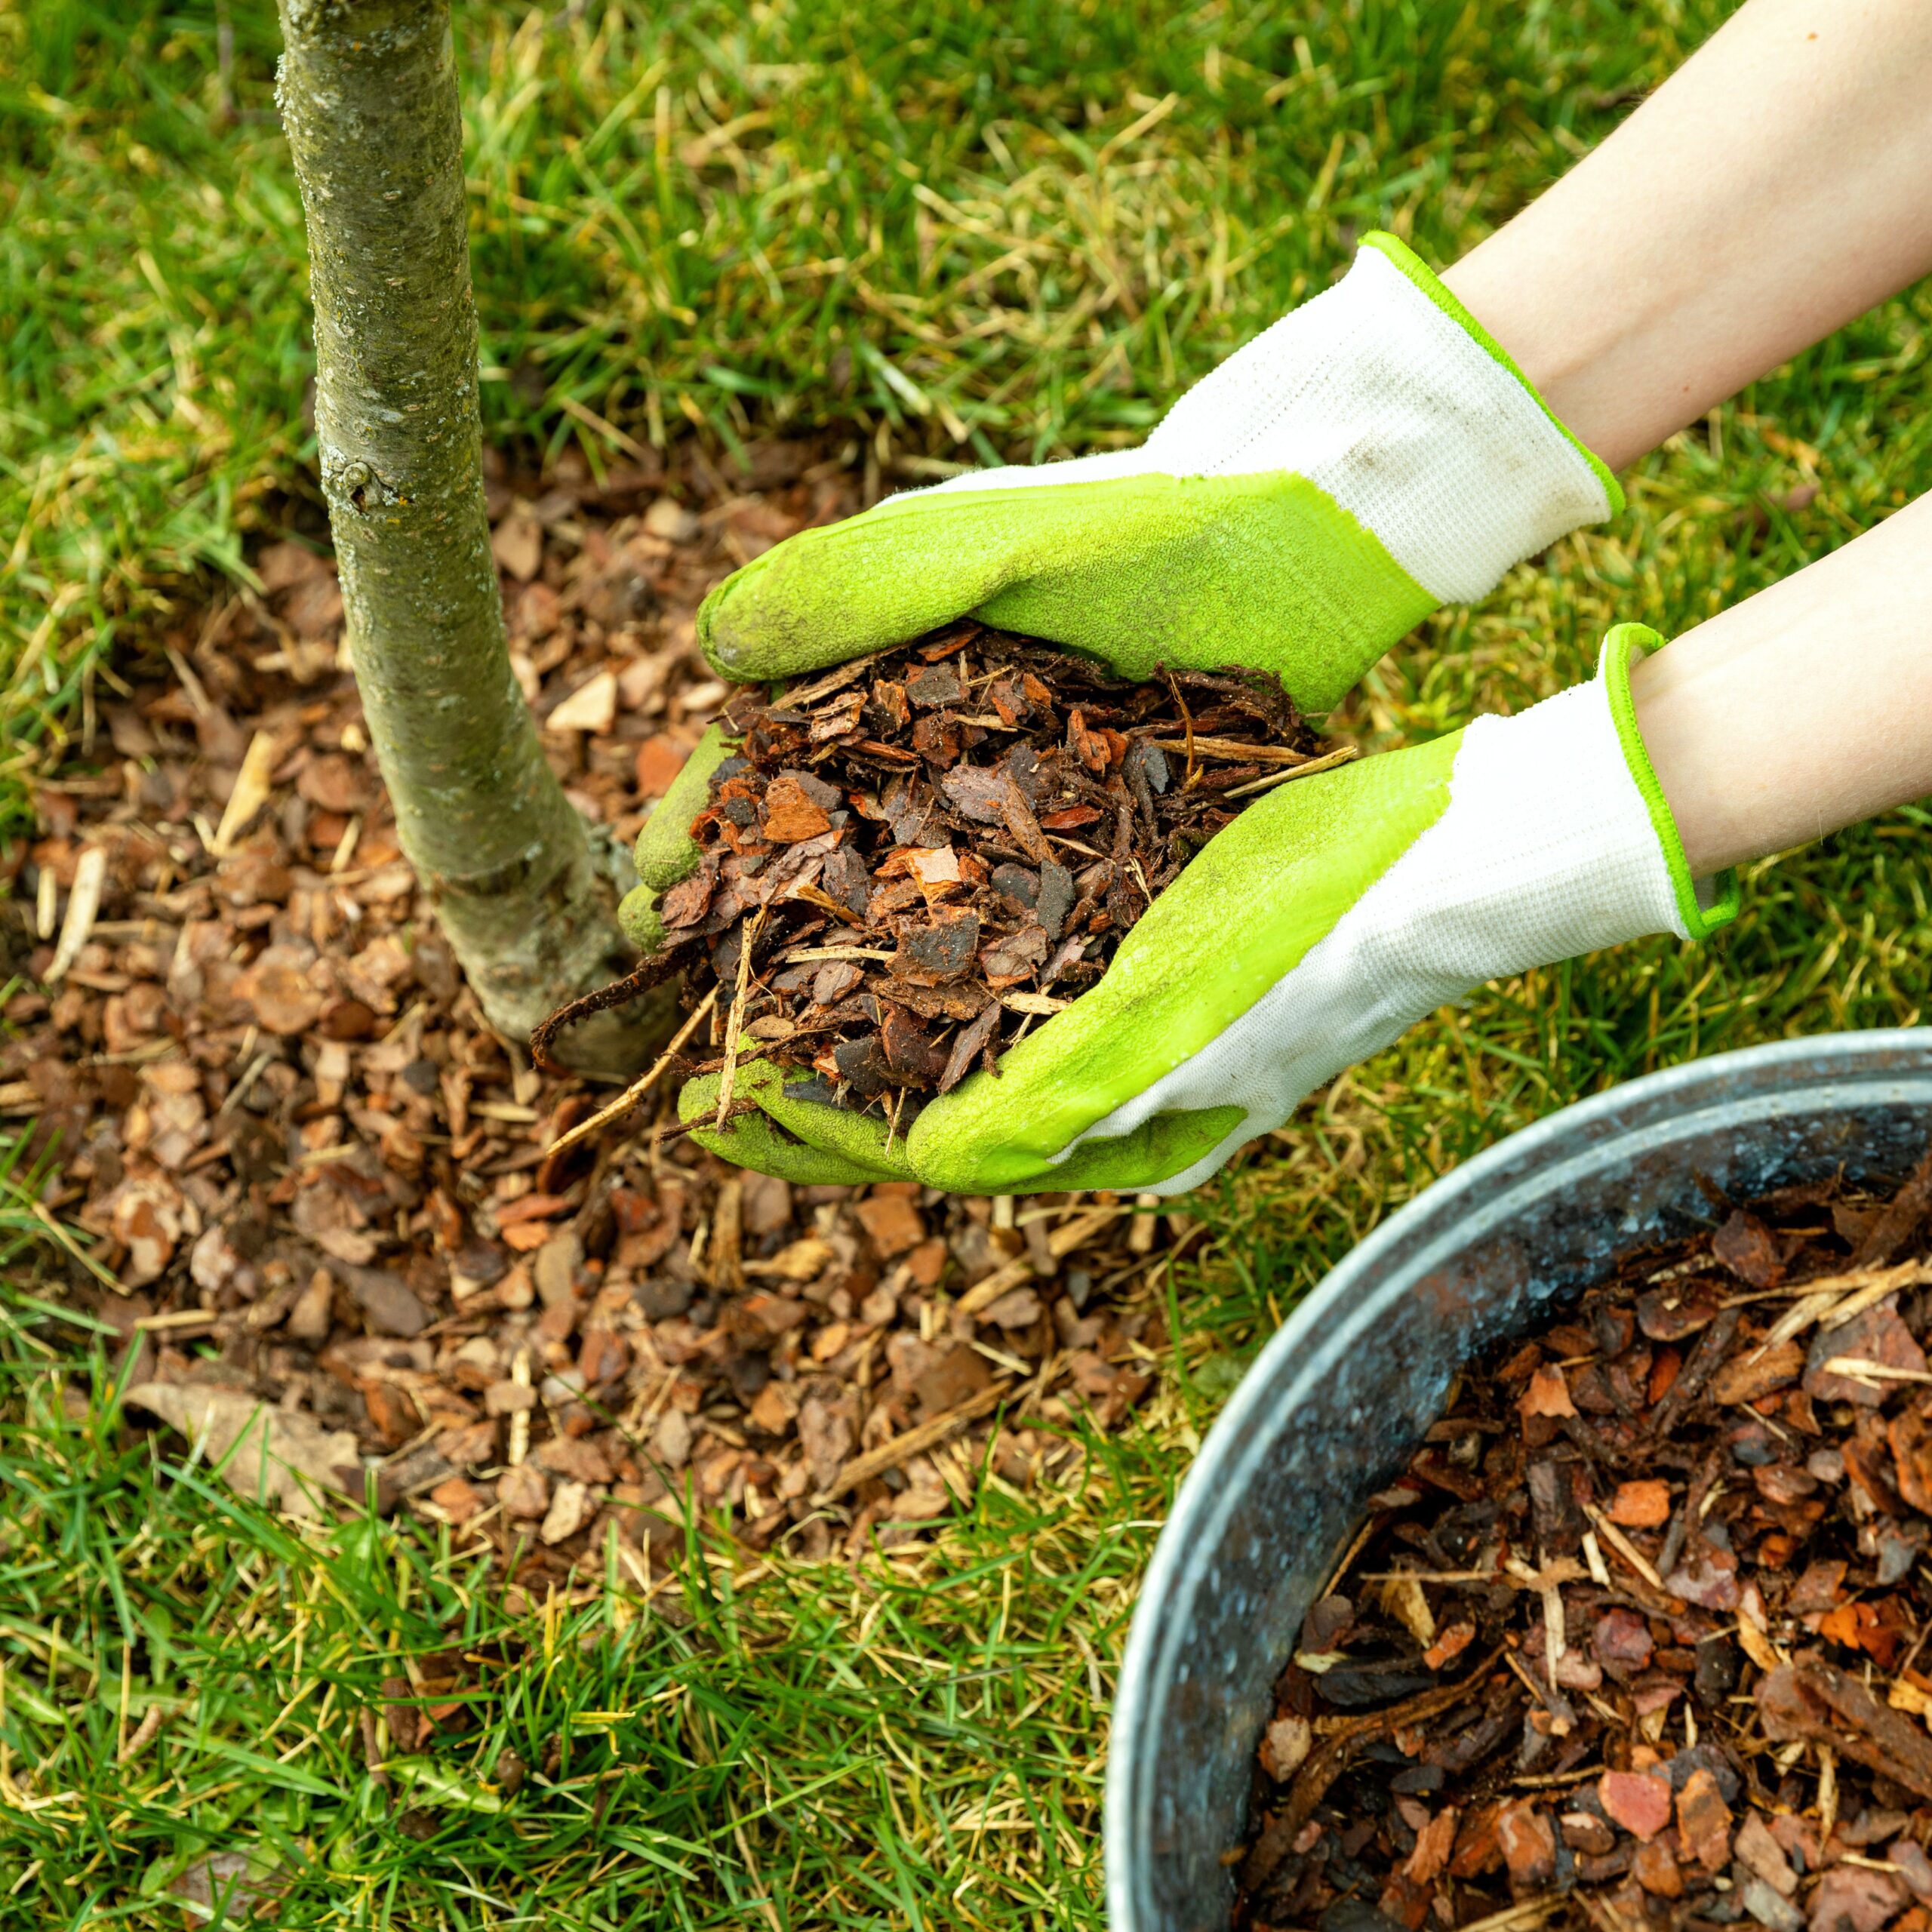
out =
[[[1354,234],[1453,259],[1725,12],[468,6],[489,435],[605,462],[811,431],[885,485],[1132,439]],[[0,0],[15,854],[116,663],[313,493],[272,56],[261,6]],[[1623,518],[1432,620],[1343,723],[1395,744],[1520,707],[1607,622],[1683,630],[1932,487],[1928,328],[1920,288],[1673,439]],[[299,1530],[129,1449],[87,1393],[99,1337],[58,1318],[39,1177],[10,1173],[0,1932],[195,1922],[168,1888],[211,1857],[274,1884],[288,1926],[1095,1924],[1134,1578],[1244,1356],[1389,1208],[1580,1094],[1917,1022],[1928,829],[1899,811],[1754,867],[1704,951],[1633,945],[1437,1014],[1198,1202],[1215,1238],[1177,1279],[1159,1393],[1078,1488],[989,1482],[856,1573],[746,1567],[703,1526],[678,1617],[614,1582],[512,1615],[419,1532]],[[384,1791],[365,1714],[384,1681],[433,1696],[442,1654],[471,1660],[464,1741],[390,1754]]]

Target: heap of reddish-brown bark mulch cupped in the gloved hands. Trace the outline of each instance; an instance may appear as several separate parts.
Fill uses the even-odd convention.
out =
[[[1130,684],[974,622],[724,719],[663,956],[719,989],[711,1068],[757,1051],[896,1128],[1099,980],[1246,804],[1352,755],[1265,672]]]

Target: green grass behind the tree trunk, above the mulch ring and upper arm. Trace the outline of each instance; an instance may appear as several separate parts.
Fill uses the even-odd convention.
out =
[[[1350,236],[1457,253],[1723,12],[464,6],[489,433],[1134,437]],[[0,837],[114,639],[307,487],[274,52],[265,0],[0,0]]]

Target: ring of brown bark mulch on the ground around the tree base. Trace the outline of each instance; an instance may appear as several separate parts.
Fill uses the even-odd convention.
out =
[[[858,506],[815,458],[493,466],[512,665],[626,846],[728,696],[694,645],[703,593]],[[102,680],[8,860],[0,1122],[56,1163],[66,1298],[120,1337],[129,1426],[234,1451],[249,1490],[267,1447],[301,1472],[270,1482],[294,1513],[373,1478],[539,1596],[601,1577],[611,1532],[661,1580],[688,1503],[831,1553],[900,1544],[989,1476],[1070,1478],[1086,1420],[1150,1389],[1157,1277],[1200,1227],[1107,1196],[794,1190],[653,1150],[645,1117],[549,1157],[607,1090],[535,1074],[462,985],[323,547],[255,568],[261,595]]]

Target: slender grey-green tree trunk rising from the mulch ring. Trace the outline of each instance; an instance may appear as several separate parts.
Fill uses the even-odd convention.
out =
[[[491,1024],[522,1043],[622,974],[591,852],[510,672],[483,508],[477,319],[448,0],[280,0],[309,220],[315,431],[350,649],[396,831]],[[628,883],[628,881],[626,881]],[[638,1065],[668,993],[566,1034]]]

